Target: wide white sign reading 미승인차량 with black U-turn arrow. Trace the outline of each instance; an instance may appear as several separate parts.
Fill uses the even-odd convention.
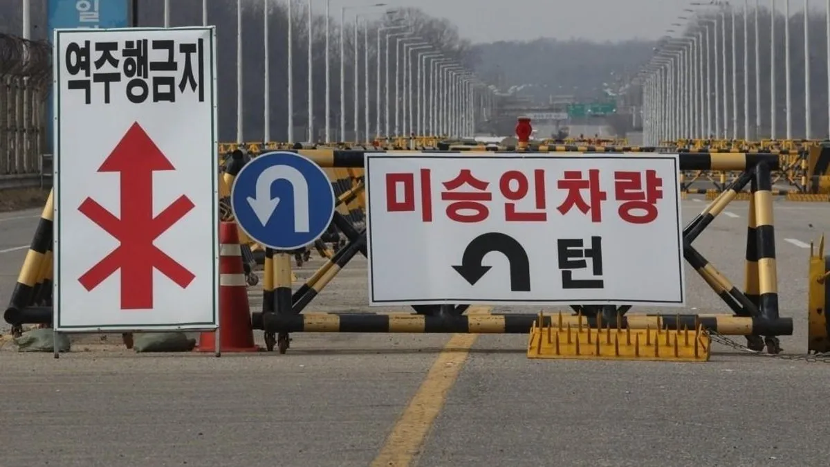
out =
[[[368,153],[369,302],[681,307],[678,160]]]

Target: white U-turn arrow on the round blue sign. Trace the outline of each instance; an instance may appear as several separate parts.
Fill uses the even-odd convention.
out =
[[[254,214],[264,227],[280,204],[280,198],[271,199],[271,184],[276,180],[287,180],[294,192],[294,231],[309,232],[309,184],[305,177],[289,165],[272,165],[263,170],[256,179],[256,198],[248,196]]]

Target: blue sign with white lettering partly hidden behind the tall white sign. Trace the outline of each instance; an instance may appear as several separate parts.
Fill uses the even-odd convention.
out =
[[[46,28],[50,41],[52,32],[60,28],[129,27],[130,0],[47,0]],[[51,94],[51,91],[50,91]],[[52,147],[52,98],[48,101],[46,120],[48,146]]]

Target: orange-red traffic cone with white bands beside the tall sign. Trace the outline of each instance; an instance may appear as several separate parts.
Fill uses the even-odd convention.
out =
[[[257,351],[237,224],[219,224],[219,350]],[[199,335],[197,351],[216,351],[216,333]]]

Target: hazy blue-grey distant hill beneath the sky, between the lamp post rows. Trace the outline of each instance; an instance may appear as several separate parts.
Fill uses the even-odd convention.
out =
[[[589,42],[537,39],[530,42],[476,44],[478,73],[484,81],[506,90],[526,86],[526,96],[547,100],[550,95],[581,98],[602,96],[603,83],[620,84],[652,56],[654,42]]]

